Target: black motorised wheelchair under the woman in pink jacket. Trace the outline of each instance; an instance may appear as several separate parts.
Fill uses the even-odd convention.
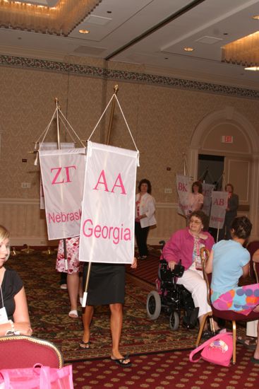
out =
[[[164,247],[164,240],[159,242]],[[156,280],[156,291],[150,291],[147,296],[147,317],[156,320],[161,311],[169,315],[169,327],[171,330],[178,330],[181,311],[183,312],[183,326],[194,328],[197,324],[198,309],[195,308],[191,293],[183,286],[176,284],[176,278],[182,277],[184,267],[181,261],[169,269],[167,261],[159,260],[158,278]]]

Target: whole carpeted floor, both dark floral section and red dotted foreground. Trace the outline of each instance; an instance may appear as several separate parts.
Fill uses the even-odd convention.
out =
[[[155,321],[147,319],[146,296],[154,289],[152,283],[157,277],[155,256],[141,261],[135,275],[131,270],[127,274],[121,352],[131,354],[132,366],[121,368],[109,359],[107,307],[95,310],[91,349],[79,349],[82,323],[80,319],[68,318],[68,295],[59,288],[55,262],[55,255],[38,251],[12,257],[8,265],[19,272],[25,283],[33,335],[54,342],[63,352],[66,364],[73,364],[76,389],[258,388],[259,365],[251,364],[251,350],[238,344],[236,365],[229,367],[203,360],[191,364],[188,354],[194,347],[197,330],[180,327],[172,332],[164,314]],[[239,327],[239,335],[244,332],[244,327]]]

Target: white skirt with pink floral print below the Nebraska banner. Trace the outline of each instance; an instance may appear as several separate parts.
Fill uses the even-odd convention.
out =
[[[65,268],[64,240],[59,240],[58,255],[56,258],[56,270],[68,274],[83,271],[83,262],[79,262],[79,236],[66,239],[66,255],[68,258],[68,270]]]

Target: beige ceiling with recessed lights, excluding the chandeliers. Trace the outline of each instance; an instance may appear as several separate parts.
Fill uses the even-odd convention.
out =
[[[0,0],[1,26],[1,7],[7,1],[11,0]],[[59,1],[31,3],[52,6]],[[14,29],[11,23],[8,28],[1,27],[0,54],[58,60],[68,55],[95,57],[138,64],[151,74],[259,89],[258,71],[246,71],[241,65],[222,62],[222,46],[259,30],[259,21],[252,18],[259,15],[259,1],[101,0],[96,3],[67,36],[36,33],[33,31],[37,30],[36,26],[30,26],[30,31]],[[90,33],[81,34],[80,29]],[[194,50],[185,52],[184,47]]]

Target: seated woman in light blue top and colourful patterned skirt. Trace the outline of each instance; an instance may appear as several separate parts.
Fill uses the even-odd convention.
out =
[[[231,224],[232,239],[220,240],[212,247],[205,271],[212,273],[211,301],[218,310],[234,310],[241,315],[252,310],[259,313],[259,284],[238,286],[239,278],[249,274],[250,254],[243,245],[251,229],[246,216],[236,217]],[[259,364],[259,339],[251,360]]]

